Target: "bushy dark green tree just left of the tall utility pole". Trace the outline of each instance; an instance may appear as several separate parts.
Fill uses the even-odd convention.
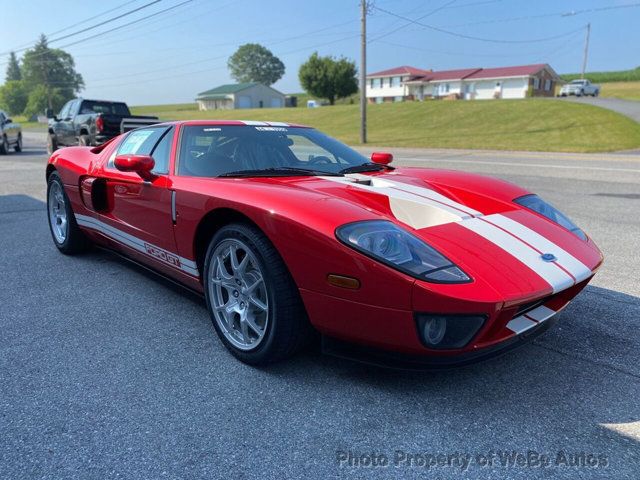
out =
[[[356,64],[346,58],[321,57],[313,53],[300,66],[298,78],[306,92],[326,98],[331,105],[336,98],[346,98],[358,91]]]

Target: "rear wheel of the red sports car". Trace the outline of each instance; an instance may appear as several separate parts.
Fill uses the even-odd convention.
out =
[[[69,197],[56,172],[47,181],[47,217],[53,243],[62,253],[73,255],[90,247],[91,243],[76,223]]]

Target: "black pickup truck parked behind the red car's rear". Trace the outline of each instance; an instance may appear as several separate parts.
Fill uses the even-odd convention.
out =
[[[100,145],[134,128],[158,123],[158,117],[131,115],[124,102],[85,100],[68,101],[58,115],[47,112],[49,135],[47,151],[73,145]]]

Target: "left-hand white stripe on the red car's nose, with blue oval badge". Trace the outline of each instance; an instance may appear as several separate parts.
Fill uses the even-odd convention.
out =
[[[542,260],[540,254],[509,233],[480,218],[460,222],[460,225],[496,244],[542,277],[554,292],[569,288],[573,278],[552,262]]]

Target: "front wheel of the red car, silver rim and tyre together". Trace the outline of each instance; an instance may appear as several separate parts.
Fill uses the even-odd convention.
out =
[[[211,240],[204,268],[207,308],[227,349],[263,365],[293,355],[312,329],[289,271],[257,228],[231,224]]]

